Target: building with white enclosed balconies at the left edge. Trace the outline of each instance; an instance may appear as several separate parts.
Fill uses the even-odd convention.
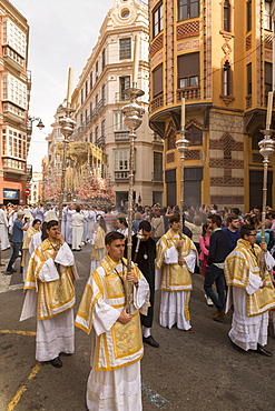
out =
[[[31,76],[27,70],[29,26],[7,0],[0,1],[0,203],[26,203],[30,179],[27,156],[31,139],[28,107]]]

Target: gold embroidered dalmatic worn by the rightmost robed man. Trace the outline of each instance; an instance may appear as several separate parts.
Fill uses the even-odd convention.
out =
[[[271,281],[271,275],[266,270],[261,273],[261,260],[263,250],[255,244],[252,245],[248,241],[239,239],[237,247],[225,260],[225,279],[227,285],[235,285],[246,289],[249,281],[249,275],[262,274],[266,285],[258,289],[253,294],[247,293],[247,317],[262,314],[275,307],[275,290]]]

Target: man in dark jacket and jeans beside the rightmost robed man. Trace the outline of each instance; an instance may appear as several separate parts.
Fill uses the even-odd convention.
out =
[[[209,214],[208,227],[213,232],[205,270],[204,289],[206,295],[212,299],[217,309],[213,314],[213,320],[219,321],[225,315],[224,261],[229,253],[229,239],[222,230],[220,215]],[[212,288],[214,282],[217,293]]]

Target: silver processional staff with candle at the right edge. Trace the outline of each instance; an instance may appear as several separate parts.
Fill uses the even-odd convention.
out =
[[[273,109],[273,91],[268,92],[267,114],[266,114],[266,128],[261,130],[264,134],[264,139],[258,142],[259,153],[263,156],[264,164],[264,179],[263,179],[263,211],[262,211],[262,242],[265,242],[265,217],[266,217],[266,201],[267,201],[267,169],[269,163],[269,157],[274,152],[275,141],[272,139],[275,130],[271,130],[272,123],[272,109]]]

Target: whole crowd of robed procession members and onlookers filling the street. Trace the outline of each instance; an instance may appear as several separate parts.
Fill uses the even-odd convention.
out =
[[[233,348],[272,355],[264,347],[269,319],[275,325],[275,211],[267,209],[264,230],[259,208],[242,213],[213,204],[183,211],[180,219],[177,206],[135,204],[129,233],[125,207],[66,206],[60,231],[52,206],[0,208],[1,249],[12,247],[7,274],[16,272],[21,258],[26,298],[20,320],[37,318],[37,361],[62,367],[60,352],[75,351],[73,321],[92,332],[89,410],[141,410],[143,342],[159,348],[151,333],[155,290],[160,290],[159,324],[193,333],[194,273],[204,278],[214,321],[223,322],[233,310]],[[90,277],[73,320],[78,274],[72,251],[87,243]]]

